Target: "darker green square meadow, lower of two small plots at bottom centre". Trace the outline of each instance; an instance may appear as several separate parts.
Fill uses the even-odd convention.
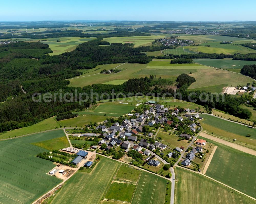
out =
[[[131,183],[113,182],[105,194],[105,199],[130,202],[135,187],[136,185]]]

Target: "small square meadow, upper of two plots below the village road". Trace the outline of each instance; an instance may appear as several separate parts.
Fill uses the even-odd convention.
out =
[[[141,171],[139,170],[132,169],[125,165],[120,165],[114,179],[137,183],[140,173]]]

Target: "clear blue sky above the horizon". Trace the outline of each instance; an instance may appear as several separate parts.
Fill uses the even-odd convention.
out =
[[[254,0],[24,0],[1,1],[0,21],[31,20],[256,20]]]

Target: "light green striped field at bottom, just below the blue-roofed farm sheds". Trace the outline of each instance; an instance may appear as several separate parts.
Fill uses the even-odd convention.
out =
[[[90,174],[77,172],[73,175],[51,203],[99,203],[118,165],[118,162],[102,157]]]

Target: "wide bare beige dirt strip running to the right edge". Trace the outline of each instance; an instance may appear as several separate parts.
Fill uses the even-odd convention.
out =
[[[228,142],[226,140],[223,140],[223,139],[220,139],[218,137],[214,137],[214,136],[208,135],[206,133],[200,133],[200,136],[205,137],[205,138],[210,139],[210,140],[214,140],[216,142],[222,143],[222,144],[227,145],[229,147],[232,147],[234,149],[237,149],[237,150],[240,150],[242,152],[245,152],[245,153],[248,153],[248,154],[256,156],[256,151],[254,151],[252,149],[249,149],[247,147],[243,147],[243,146],[234,144],[232,142]]]

